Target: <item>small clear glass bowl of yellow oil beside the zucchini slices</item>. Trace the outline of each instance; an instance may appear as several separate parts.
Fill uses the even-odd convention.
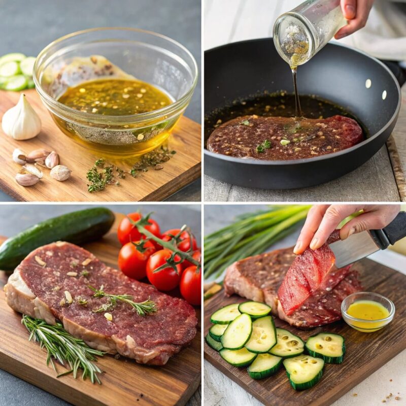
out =
[[[348,308],[351,306],[352,303],[359,300],[373,300],[381,303],[382,306],[384,306],[388,310],[389,316],[379,320],[363,320],[350,316],[347,313]],[[355,328],[358,331],[368,333],[378,331],[392,321],[393,316],[395,315],[395,305],[393,304],[392,300],[380,295],[379,293],[357,292],[352,293],[343,300],[343,302],[341,303],[341,313],[343,315],[343,319],[349,326]]]

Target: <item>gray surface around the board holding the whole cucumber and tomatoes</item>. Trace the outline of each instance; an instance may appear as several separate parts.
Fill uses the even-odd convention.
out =
[[[109,209],[130,213],[137,211],[138,205],[103,205]],[[89,205],[1,205],[0,206],[0,235],[14,235],[32,224],[74,210],[81,210]],[[94,206],[92,206],[94,207]],[[142,205],[143,214],[154,212],[153,218],[163,229],[176,228],[187,224],[193,230],[197,241],[201,238],[200,205]],[[45,362],[45,358],[44,358]],[[1,365],[0,365],[1,368]],[[68,406],[70,403],[59,399],[42,389],[37,388],[0,369],[0,406],[31,406],[32,404]],[[187,405],[201,404],[200,388],[190,398]]]

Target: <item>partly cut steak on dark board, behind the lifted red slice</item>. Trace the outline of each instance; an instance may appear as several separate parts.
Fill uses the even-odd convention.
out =
[[[295,257],[292,247],[234,262],[227,268],[224,290],[227,295],[235,293],[269,304],[275,316],[299,328],[311,328],[340,320],[344,297],[362,290],[356,270],[350,266],[331,269],[323,284],[299,309],[287,316],[277,292]]]

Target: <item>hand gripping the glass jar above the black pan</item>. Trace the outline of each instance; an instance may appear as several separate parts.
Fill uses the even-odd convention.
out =
[[[341,9],[348,24],[339,29],[334,38],[340,40],[364,27],[373,4],[374,0],[341,0]]]

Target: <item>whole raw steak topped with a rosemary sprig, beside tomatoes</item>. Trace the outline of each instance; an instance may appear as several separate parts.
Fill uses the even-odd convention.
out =
[[[97,289],[103,285],[111,294],[132,295],[136,302],[150,297],[157,312],[140,316],[129,304],[117,301],[107,310],[113,316],[109,321],[105,311],[94,312],[108,304],[108,299],[93,297],[88,285]],[[64,291],[74,301],[61,306]],[[118,352],[140,363],[163,365],[196,335],[195,311],[185,300],[127,278],[70,243],[53,243],[32,251],[10,276],[5,292],[9,306],[17,312],[51,324],[59,319],[67,331],[90,347]],[[79,299],[87,304],[79,304]]]

